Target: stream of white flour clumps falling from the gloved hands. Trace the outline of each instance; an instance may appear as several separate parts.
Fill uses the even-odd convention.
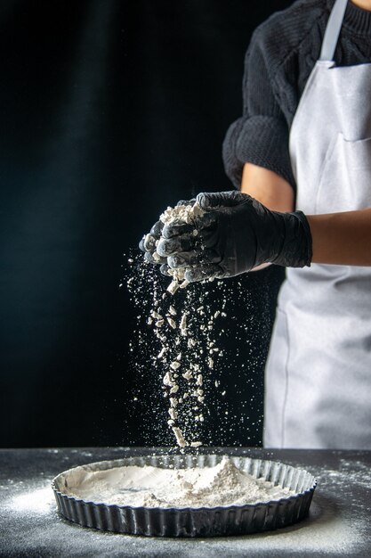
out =
[[[164,225],[186,223],[187,225],[194,226],[191,234],[197,236],[196,221],[203,214],[204,211],[200,209],[197,203],[193,205],[179,205],[175,208],[167,208],[160,216],[160,220]],[[161,237],[157,240],[156,246],[161,244],[161,242],[165,242],[165,238]],[[152,256],[155,260],[159,258],[157,252],[152,254]],[[154,308],[150,313],[148,324],[153,326],[155,336],[160,343],[157,358],[164,367],[164,396],[169,400],[169,419],[167,423],[173,431],[178,446],[199,447],[202,445],[201,440],[187,439],[185,437],[181,428],[181,419],[184,414],[187,414],[186,418],[189,427],[191,422],[204,422],[204,414],[201,407],[205,401],[205,390],[204,376],[200,372],[200,360],[206,361],[208,369],[214,368],[214,359],[219,349],[214,347],[215,343],[211,340],[210,332],[213,330],[214,319],[221,312],[215,312],[214,316],[210,316],[206,325],[201,325],[201,329],[209,333],[208,335],[206,334],[207,352],[204,354],[202,345],[205,345],[205,343],[199,337],[196,338],[189,328],[190,315],[194,313],[194,309],[188,307],[187,304],[183,304],[181,310],[178,311],[167,299],[167,296],[174,295],[178,289],[185,289],[189,285],[188,281],[184,278],[185,271],[185,267],[169,269],[169,274],[172,275],[172,282],[167,286],[166,293],[162,293],[160,299],[154,300]],[[200,316],[205,315],[204,307],[202,305],[199,306],[196,313]],[[171,332],[175,332],[175,337],[173,337]],[[186,350],[180,350],[181,345],[184,346],[185,343]],[[189,401],[193,401],[193,404],[189,403]],[[193,438],[193,431],[192,429],[190,430],[190,435]]]

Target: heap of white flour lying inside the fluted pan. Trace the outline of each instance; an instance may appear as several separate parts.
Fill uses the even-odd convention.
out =
[[[147,507],[245,505],[294,495],[288,488],[239,471],[228,457],[205,468],[145,465],[85,472],[67,493],[94,503]]]

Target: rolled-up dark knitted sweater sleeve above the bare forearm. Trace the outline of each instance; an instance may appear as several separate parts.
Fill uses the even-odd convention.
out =
[[[294,187],[288,126],[273,91],[265,42],[258,28],[246,53],[243,116],[231,124],[222,145],[224,168],[236,188],[246,162],[276,172]]]

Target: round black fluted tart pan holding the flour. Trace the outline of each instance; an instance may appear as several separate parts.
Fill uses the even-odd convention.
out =
[[[316,480],[303,469],[277,462],[230,457],[242,472],[294,490],[294,496],[257,504],[216,507],[133,507],[89,502],[69,496],[78,476],[125,465],[165,468],[213,467],[222,455],[145,455],[81,465],[52,480],[60,514],[94,529],[147,537],[226,537],[279,529],[301,521],[309,512]]]

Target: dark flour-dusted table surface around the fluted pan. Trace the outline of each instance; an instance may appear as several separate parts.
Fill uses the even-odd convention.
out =
[[[51,556],[371,556],[371,451],[213,448],[301,466],[318,479],[308,518],[245,537],[129,537],[63,520],[50,488],[59,472],[165,448],[0,449],[0,555]]]

